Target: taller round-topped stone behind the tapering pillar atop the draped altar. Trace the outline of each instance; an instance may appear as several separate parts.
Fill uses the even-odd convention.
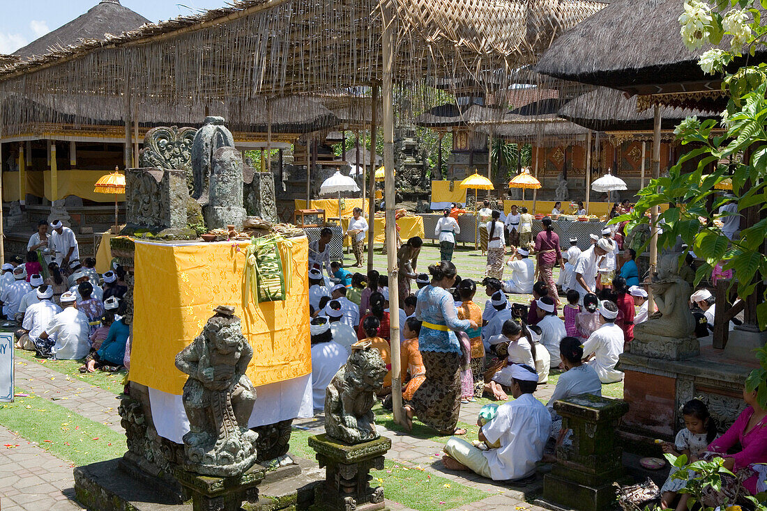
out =
[[[205,123],[197,131],[192,144],[192,173],[194,178],[192,198],[201,204],[208,201],[208,186],[210,174],[214,167],[213,156],[216,149],[234,146],[235,139],[232,137],[232,132],[224,126],[224,118],[206,117]],[[242,163],[240,168],[242,168]],[[242,190],[240,190],[240,195],[242,195]]]

